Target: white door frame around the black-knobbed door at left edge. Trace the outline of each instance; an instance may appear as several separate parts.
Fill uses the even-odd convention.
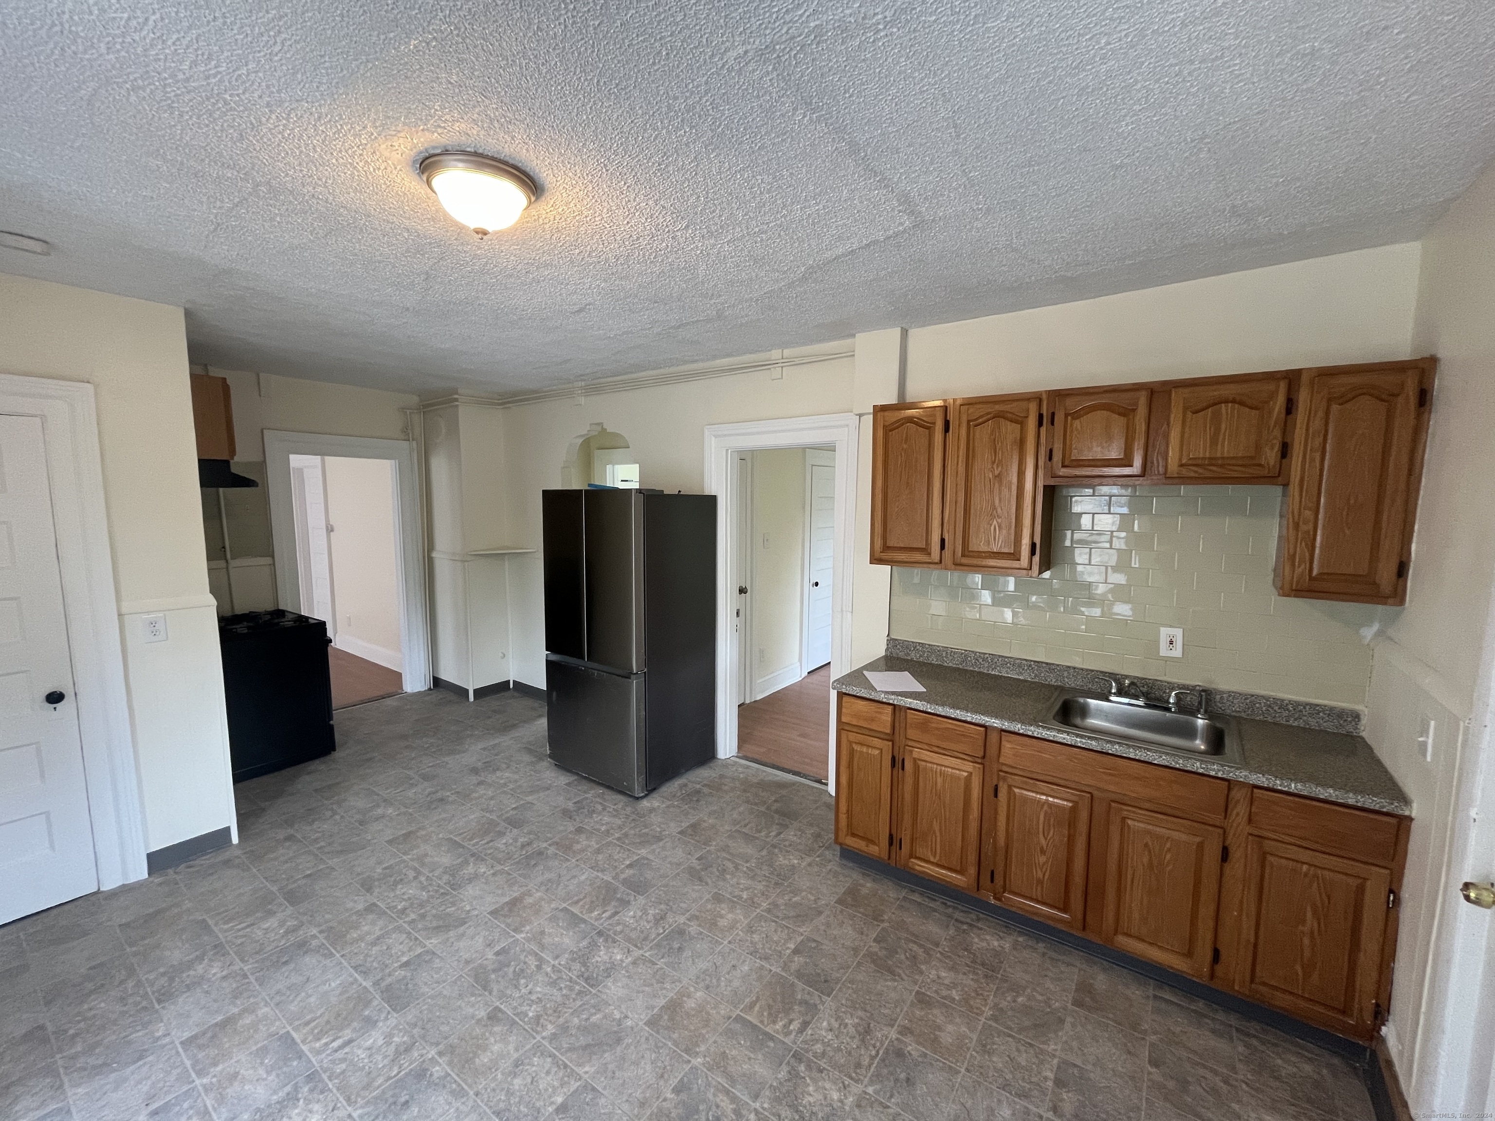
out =
[[[99,457],[94,387],[0,374],[0,413],[40,417],[63,574],[78,731],[99,889],[145,879],[145,812],[130,732],[120,605]]]

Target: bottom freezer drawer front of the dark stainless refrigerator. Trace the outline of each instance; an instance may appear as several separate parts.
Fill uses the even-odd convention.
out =
[[[649,792],[644,674],[546,659],[550,761],[635,798]]]

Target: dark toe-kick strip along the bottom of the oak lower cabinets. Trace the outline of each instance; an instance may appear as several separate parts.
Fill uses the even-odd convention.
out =
[[[1332,1031],[1325,1031],[1323,1028],[1316,1028],[1311,1024],[1304,1024],[1301,1019],[1293,1019],[1292,1016],[1283,1015],[1277,1009],[1269,1009],[1265,1004],[1257,1004],[1250,1000],[1242,1000],[1241,997],[1217,989],[1211,985],[1205,985],[1193,978],[1186,978],[1180,973],[1174,973],[1162,966],[1154,966],[1151,961],[1142,961],[1142,958],[1135,958],[1130,954],[1123,954],[1111,946],[1103,946],[1099,942],[1091,942],[1079,934],[1072,934],[1067,930],[1060,930],[1058,927],[1049,927],[1046,922],[1038,919],[1030,919],[1027,915],[1020,915],[1015,910],[1008,910],[1006,907],[999,907],[996,903],[988,903],[979,895],[967,895],[955,888],[948,888],[943,883],[936,883],[934,880],[924,879],[922,876],[915,876],[912,871],[904,871],[903,868],[896,868],[891,864],[884,864],[872,856],[864,856],[860,852],[852,852],[851,849],[842,849],[840,858],[846,864],[852,864],[858,868],[866,868],[867,871],[885,876],[891,880],[897,880],[909,888],[918,888],[919,891],[928,892],[930,895],[937,895],[942,900],[955,903],[969,910],[981,912],[999,922],[1006,922],[1009,927],[1020,927],[1030,934],[1038,934],[1041,939],[1048,939],[1049,942],[1057,942],[1061,946],[1069,946],[1081,954],[1088,954],[1093,958],[1100,958],[1102,961],[1109,961],[1112,966],[1120,966],[1121,969],[1129,969],[1133,973],[1141,973],[1144,978],[1157,981],[1169,988],[1175,988],[1180,992],[1186,992],[1196,1000],[1203,1000],[1217,1007],[1223,1007],[1227,1012],[1235,1012],[1238,1016],[1245,1019],[1254,1019],[1257,1024],[1265,1024],[1266,1027],[1277,1028],[1286,1036],[1293,1039],[1301,1039],[1305,1043],[1313,1043],[1317,1048],[1331,1051],[1337,1055],[1348,1058],[1351,1063],[1360,1066],[1362,1072],[1375,1066],[1374,1054],[1363,1043],[1356,1043],[1353,1039],[1346,1039],[1344,1036],[1337,1036]],[[1366,1085],[1369,1085],[1366,1082]],[[1389,1118],[1377,1118],[1377,1121],[1390,1121]]]

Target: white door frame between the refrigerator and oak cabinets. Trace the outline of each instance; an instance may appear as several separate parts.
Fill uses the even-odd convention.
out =
[[[739,646],[733,637],[733,605],[737,587],[731,584],[737,537],[737,520],[730,517],[737,502],[737,472],[734,451],[756,451],[777,447],[836,448],[836,559],[831,577],[831,676],[845,674],[851,665],[851,559],[854,511],[857,508],[857,438],[860,419],[855,413],[833,413],[821,417],[789,417],[785,420],[749,420],[739,424],[706,426],[706,490],[716,502],[716,755],[737,755],[737,682],[740,680]],[[831,705],[834,720],[834,705]],[[836,791],[836,738],[833,723],[825,726],[825,753],[830,761],[830,789]]]

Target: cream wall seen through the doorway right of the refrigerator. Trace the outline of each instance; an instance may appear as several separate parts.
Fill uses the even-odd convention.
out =
[[[804,605],[804,450],[752,451],[753,695],[800,677]],[[764,541],[767,535],[767,543]],[[788,677],[785,677],[788,671]],[[779,680],[774,680],[774,677]]]

